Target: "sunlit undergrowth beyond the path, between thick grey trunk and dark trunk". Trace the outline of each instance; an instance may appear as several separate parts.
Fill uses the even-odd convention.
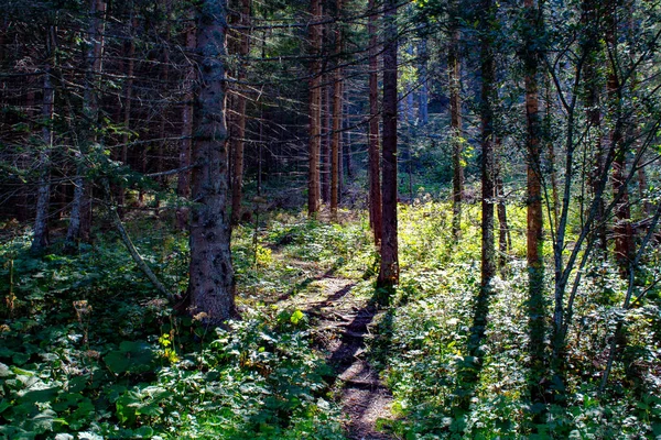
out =
[[[373,275],[377,255],[366,222],[364,217],[334,223],[283,212],[271,215],[257,235],[254,224],[236,228],[232,256],[241,296],[277,302],[310,288],[323,274]]]

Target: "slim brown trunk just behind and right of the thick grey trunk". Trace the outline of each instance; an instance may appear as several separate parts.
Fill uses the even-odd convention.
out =
[[[241,0],[241,18],[239,24],[250,25],[251,0]],[[246,57],[250,52],[250,31],[245,29],[240,34],[239,74],[237,75],[238,94],[236,97],[236,125],[232,138],[232,182],[231,182],[231,223],[238,224],[241,219],[241,198],[243,186],[243,140],[246,138],[246,91],[242,82],[246,80]]]

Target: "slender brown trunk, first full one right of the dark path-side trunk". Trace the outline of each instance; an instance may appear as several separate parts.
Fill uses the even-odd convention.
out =
[[[453,3],[453,14],[458,14],[456,4]],[[462,202],[464,198],[464,164],[462,151],[464,150],[462,138],[462,63],[459,59],[458,20],[451,19],[451,42],[447,52],[447,69],[449,72],[449,114],[451,114],[451,139],[452,139],[452,234],[458,241],[462,232]]]

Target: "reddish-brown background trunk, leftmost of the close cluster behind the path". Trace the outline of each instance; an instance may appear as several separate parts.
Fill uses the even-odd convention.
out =
[[[322,119],[322,89],[321,89],[321,51],[322,28],[318,22],[322,18],[321,0],[310,0],[310,157],[307,177],[307,216],[315,217],[319,210],[319,150],[321,150],[321,119]],[[333,196],[330,196],[333,197]],[[330,201],[333,204],[333,201]]]

